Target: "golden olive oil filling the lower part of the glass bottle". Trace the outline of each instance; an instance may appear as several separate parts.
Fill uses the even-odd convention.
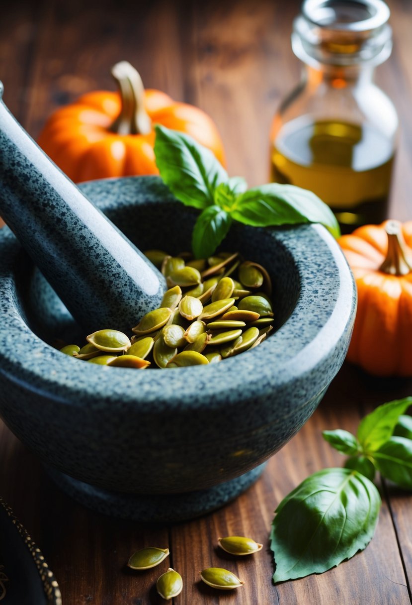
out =
[[[313,191],[349,232],[387,216],[393,155],[393,143],[365,123],[301,117],[278,132],[271,178]]]

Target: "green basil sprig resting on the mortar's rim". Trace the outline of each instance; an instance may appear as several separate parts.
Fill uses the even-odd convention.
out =
[[[160,175],[175,197],[201,210],[192,235],[195,257],[208,257],[227,235],[232,220],[255,227],[321,223],[339,237],[333,212],[311,191],[269,183],[247,189],[242,177],[229,178],[213,153],[192,137],[155,126]]]

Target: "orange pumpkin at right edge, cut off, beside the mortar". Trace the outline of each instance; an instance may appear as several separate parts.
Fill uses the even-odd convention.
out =
[[[343,235],[358,312],[347,359],[378,376],[412,376],[412,221]]]

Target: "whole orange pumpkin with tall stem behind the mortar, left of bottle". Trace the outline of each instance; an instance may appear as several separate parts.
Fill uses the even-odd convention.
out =
[[[159,174],[154,123],[185,132],[211,149],[225,165],[213,120],[158,90],[144,90],[137,71],[121,61],[112,68],[120,93],[95,91],[55,111],[38,143],[73,181]]]

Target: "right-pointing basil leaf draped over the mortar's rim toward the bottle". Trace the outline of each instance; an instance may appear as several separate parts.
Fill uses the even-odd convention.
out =
[[[307,189],[268,183],[240,195],[232,209],[240,223],[269,227],[295,223],[321,223],[339,237],[340,228],[329,206]]]

